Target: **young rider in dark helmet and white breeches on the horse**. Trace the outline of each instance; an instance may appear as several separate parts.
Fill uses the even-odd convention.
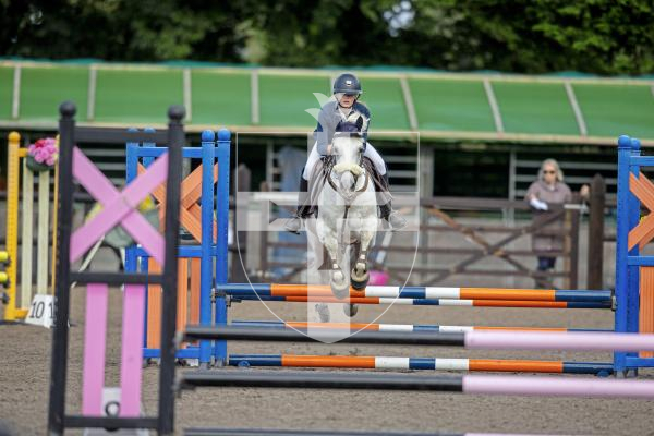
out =
[[[334,82],[332,94],[336,98],[327,101],[318,114],[318,125],[314,131],[316,144],[308,155],[306,166],[302,171],[302,178],[300,178],[298,213],[294,217],[289,219],[284,226],[288,231],[293,233],[300,232],[302,220],[307,218],[312,211],[311,205],[307,205],[310,174],[318,159],[320,159],[322,156],[331,153],[331,140],[334,133],[339,131],[338,128],[342,124],[356,123],[359,118],[362,118],[363,123],[359,121],[359,125],[360,133],[364,140],[364,156],[372,160],[375,170],[382,179],[384,179],[386,186],[388,186],[386,164],[377,150],[367,143],[367,129],[371,121],[371,112],[364,104],[358,101],[361,94],[363,94],[361,82],[359,82],[359,78],[356,78],[354,74],[341,74]],[[375,189],[378,190],[377,183],[375,183]],[[382,216],[382,219],[385,219],[388,222],[389,228],[393,231],[407,226],[404,218],[392,210],[390,201],[379,206],[379,215]]]

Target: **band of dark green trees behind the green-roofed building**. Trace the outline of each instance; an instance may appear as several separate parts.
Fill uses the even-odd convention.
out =
[[[112,61],[654,71],[651,0],[0,0],[0,52]]]

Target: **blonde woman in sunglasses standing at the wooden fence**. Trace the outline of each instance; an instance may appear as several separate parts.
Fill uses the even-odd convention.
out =
[[[589,186],[584,185],[580,192],[582,197],[588,197]],[[533,182],[524,199],[534,211],[534,219],[552,214],[554,205],[562,205],[572,201],[570,187],[564,183],[564,172],[555,159],[545,159],[538,170],[538,180]],[[556,206],[554,206],[556,208]],[[534,252],[552,252],[552,255],[538,255],[538,271],[550,271],[556,265],[556,253],[564,250],[564,237],[561,234],[548,234],[547,231],[562,230],[564,219],[555,220],[542,230],[542,233],[534,233],[532,238],[532,250]],[[543,287],[542,280],[536,279],[536,286]]]

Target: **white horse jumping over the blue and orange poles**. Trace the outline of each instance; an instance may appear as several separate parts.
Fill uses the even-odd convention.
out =
[[[377,231],[377,201],[373,175],[362,165],[364,145],[359,134],[335,134],[318,196],[316,233],[329,254],[329,284],[337,298],[348,296],[350,284],[364,289],[370,278],[367,253]],[[346,313],[353,316],[356,307],[350,305]]]

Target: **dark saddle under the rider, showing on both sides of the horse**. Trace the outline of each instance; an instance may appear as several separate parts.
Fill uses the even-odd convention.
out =
[[[310,205],[308,215],[314,214],[318,216],[318,196],[325,187],[325,183],[329,182],[329,175],[336,165],[335,156],[323,156],[320,160],[316,162],[308,178],[308,195],[306,201]],[[364,157],[361,166],[370,174],[370,180],[375,185],[375,195],[377,196],[377,203],[380,205],[387,204],[392,199],[388,185],[388,179],[379,174],[375,165],[371,159]]]

